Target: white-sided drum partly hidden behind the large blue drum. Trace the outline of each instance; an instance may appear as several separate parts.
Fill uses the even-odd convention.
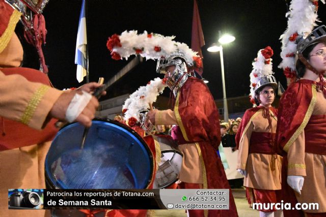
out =
[[[155,134],[161,149],[161,162],[158,164],[153,189],[163,189],[175,183],[182,165],[182,153],[169,135]]]

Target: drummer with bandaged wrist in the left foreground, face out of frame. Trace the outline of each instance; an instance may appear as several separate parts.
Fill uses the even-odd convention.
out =
[[[44,216],[45,210],[8,210],[8,189],[45,188],[45,154],[58,131],[51,117],[90,126],[98,101],[88,92],[99,85],[63,92],[52,88],[44,73],[20,68],[23,50],[14,29],[21,13],[4,0],[0,5],[5,12],[0,16],[0,213]],[[79,101],[80,97],[86,99]],[[83,105],[77,106],[79,111],[68,109],[71,102]]]

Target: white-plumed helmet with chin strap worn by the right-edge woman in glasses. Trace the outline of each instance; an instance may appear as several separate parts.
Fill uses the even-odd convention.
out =
[[[322,3],[324,3],[324,1],[322,1]],[[326,29],[323,26],[311,32],[313,27],[316,26],[317,9],[318,0],[292,1],[289,12],[286,14],[288,17],[288,26],[280,37],[282,40],[281,57],[283,60],[278,67],[283,69],[285,77],[290,79],[290,82],[297,79],[296,66],[298,59],[300,59],[307,68],[310,66],[307,60],[302,56],[302,52],[308,46],[322,40],[322,36],[325,35]],[[310,66],[309,69],[311,68]]]

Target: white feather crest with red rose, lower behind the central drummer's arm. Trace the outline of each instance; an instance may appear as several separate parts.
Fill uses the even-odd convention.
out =
[[[124,118],[128,126],[133,127],[140,123],[140,114],[147,111],[152,103],[156,102],[157,96],[166,87],[166,78],[155,78],[148,82],[146,86],[141,86],[134,91],[122,106]]]

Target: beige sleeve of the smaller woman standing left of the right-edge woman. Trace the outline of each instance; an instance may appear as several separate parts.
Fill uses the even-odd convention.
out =
[[[247,159],[249,154],[249,142],[251,133],[253,132],[254,124],[250,123],[246,132],[242,134],[239,142],[239,152],[238,152],[238,161],[237,161],[237,169],[246,170]]]

